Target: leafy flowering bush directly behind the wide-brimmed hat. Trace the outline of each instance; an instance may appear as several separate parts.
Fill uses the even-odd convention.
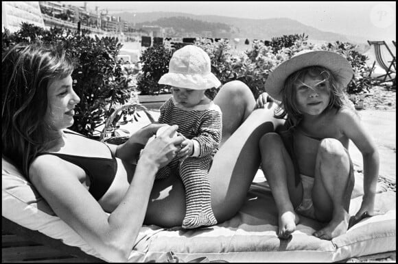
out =
[[[251,49],[239,55],[231,55],[228,40],[211,43],[207,39],[198,40],[196,45],[204,49],[210,58],[211,71],[222,83],[232,80],[243,81],[253,92],[255,98],[265,92],[264,85],[270,72],[281,62],[290,59],[292,55],[307,49],[323,49],[340,53],[351,63],[355,72],[353,81],[347,86],[348,94],[358,94],[371,88],[370,68],[366,65],[368,58],[355,51],[350,43],[333,42],[315,46],[307,42],[308,36],[290,35],[272,38],[267,46],[264,42],[255,41]],[[215,96],[215,94],[213,94]]]

